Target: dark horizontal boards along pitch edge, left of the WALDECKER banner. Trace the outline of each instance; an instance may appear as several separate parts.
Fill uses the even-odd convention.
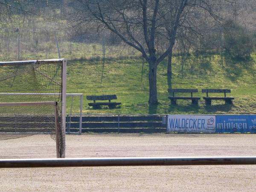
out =
[[[78,132],[78,120],[78,116],[70,118],[72,123],[68,126],[72,132]],[[163,133],[166,132],[166,115],[83,114],[82,132]]]

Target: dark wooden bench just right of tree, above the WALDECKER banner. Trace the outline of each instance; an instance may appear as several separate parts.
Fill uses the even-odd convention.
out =
[[[193,97],[193,93],[198,93],[198,89],[168,89],[169,93],[172,93],[172,96],[168,98],[171,99],[172,104],[176,104],[177,99],[188,99],[192,100],[193,104],[198,104],[200,97]],[[191,93],[190,97],[175,97],[174,93]]]

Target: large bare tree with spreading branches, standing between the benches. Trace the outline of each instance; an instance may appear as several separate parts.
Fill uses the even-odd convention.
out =
[[[94,22],[142,53],[149,64],[148,103],[157,104],[157,66],[172,52],[181,20],[192,17],[191,8],[211,12],[211,4],[211,0],[77,0],[73,5],[77,26]],[[163,52],[156,49],[157,39],[167,42]]]

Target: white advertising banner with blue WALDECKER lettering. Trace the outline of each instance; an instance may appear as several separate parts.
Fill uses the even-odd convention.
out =
[[[214,115],[168,115],[167,132],[215,133]]]

